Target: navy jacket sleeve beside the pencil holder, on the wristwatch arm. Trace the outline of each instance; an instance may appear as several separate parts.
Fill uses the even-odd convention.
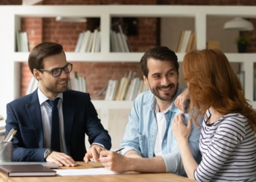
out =
[[[29,138],[22,138],[20,134],[20,127],[18,124],[18,117],[12,109],[10,103],[7,104],[7,120],[6,120],[5,138],[12,128],[17,130],[13,141],[13,161],[14,162],[45,162],[44,153],[46,149],[26,149],[23,140]]]

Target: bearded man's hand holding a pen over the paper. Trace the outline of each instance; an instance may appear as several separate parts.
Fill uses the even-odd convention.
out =
[[[99,159],[105,168],[116,173],[124,173],[130,171],[131,168],[129,167],[132,167],[132,158],[124,157],[115,151],[101,151]]]

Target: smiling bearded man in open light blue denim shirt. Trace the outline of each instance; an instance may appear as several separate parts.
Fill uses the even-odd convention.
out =
[[[145,84],[151,91],[135,99],[129,114],[121,154],[101,151],[100,161],[116,172],[175,173],[185,175],[171,126],[181,111],[174,101],[183,91],[178,87],[178,58],[167,47],[148,50],[140,60]],[[184,114],[184,119],[188,115]],[[186,121],[184,121],[186,122]],[[200,121],[201,122],[201,121]],[[198,141],[200,127],[192,126],[189,146],[193,156],[200,161]]]

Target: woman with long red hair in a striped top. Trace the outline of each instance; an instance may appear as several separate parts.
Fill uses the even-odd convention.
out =
[[[184,57],[184,79],[192,119],[178,115],[173,133],[189,178],[197,181],[253,181],[256,177],[256,111],[220,50],[192,50]],[[202,161],[189,150],[191,120],[205,116],[200,135]]]

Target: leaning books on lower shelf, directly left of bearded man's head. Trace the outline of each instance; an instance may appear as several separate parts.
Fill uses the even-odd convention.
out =
[[[129,71],[121,80],[110,79],[105,95],[105,100],[134,100],[141,92],[149,90],[148,85]]]

